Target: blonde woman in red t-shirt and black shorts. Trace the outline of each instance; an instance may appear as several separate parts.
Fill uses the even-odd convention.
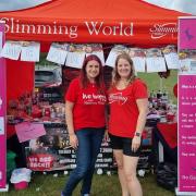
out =
[[[145,83],[135,76],[133,61],[127,53],[118,56],[115,60],[109,105],[109,133],[122,195],[142,196],[136,167],[148,111],[148,96]]]

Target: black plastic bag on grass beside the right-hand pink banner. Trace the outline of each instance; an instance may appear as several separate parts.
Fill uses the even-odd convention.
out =
[[[156,169],[157,184],[174,191],[177,186],[177,166],[170,162],[161,162]]]

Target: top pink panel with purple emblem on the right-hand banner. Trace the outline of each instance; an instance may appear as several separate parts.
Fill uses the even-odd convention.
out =
[[[180,17],[179,48],[196,49],[196,16]]]

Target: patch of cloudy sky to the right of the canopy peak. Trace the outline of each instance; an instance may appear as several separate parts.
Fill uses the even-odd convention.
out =
[[[196,15],[196,0],[144,0],[146,2]]]

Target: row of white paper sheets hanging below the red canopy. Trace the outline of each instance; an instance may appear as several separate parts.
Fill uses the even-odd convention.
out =
[[[105,59],[105,51],[109,51]],[[59,65],[81,69],[85,57],[96,54],[103,65],[113,68],[115,58],[121,52],[127,52],[132,58],[136,72],[167,72],[168,70],[189,71],[195,68],[194,57],[196,51],[180,51],[176,46],[168,45],[163,48],[132,48],[128,45],[110,45],[102,47],[101,44],[66,44],[52,42],[47,54],[47,60]],[[35,41],[5,41],[1,57],[39,62],[40,44]],[[192,65],[194,65],[192,68]]]

